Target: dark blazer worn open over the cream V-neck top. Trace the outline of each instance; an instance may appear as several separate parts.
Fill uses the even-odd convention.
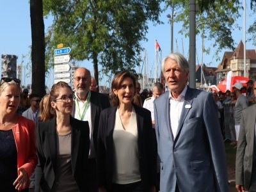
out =
[[[150,111],[134,105],[138,125],[138,151],[141,180],[145,191],[156,185],[156,147],[154,146]],[[113,175],[113,130],[116,108],[104,109],[100,115],[97,177],[100,187],[111,191]]]

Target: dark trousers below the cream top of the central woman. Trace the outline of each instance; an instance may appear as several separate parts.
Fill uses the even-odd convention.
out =
[[[145,192],[144,186],[141,181],[132,182],[129,184],[112,184],[111,192]]]

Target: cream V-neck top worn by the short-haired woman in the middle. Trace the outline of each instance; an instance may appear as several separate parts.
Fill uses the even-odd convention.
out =
[[[140,181],[138,153],[138,128],[136,113],[132,108],[130,122],[126,131],[116,110],[113,131],[113,179],[116,184],[129,184]]]

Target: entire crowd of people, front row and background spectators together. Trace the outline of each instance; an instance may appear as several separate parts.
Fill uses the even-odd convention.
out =
[[[122,71],[109,97],[83,67],[75,90],[60,81],[42,99],[2,77],[1,191],[226,192],[225,139],[237,145],[237,191],[255,191],[256,84],[225,93],[189,88],[179,53],[166,56],[161,71],[170,92],[161,83],[141,92]]]

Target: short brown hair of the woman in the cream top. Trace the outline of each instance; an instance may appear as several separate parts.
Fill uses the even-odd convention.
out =
[[[113,92],[113,90],[119,90],[121,88],[121,84],[122,82],[124,81],[124,79],[126,77],[130,77],[132,79],[132,83],[134,85],[134,95],[136,93],[135,91],[135,87],[136,87],[136,79],[134,77],[134,75],[127,71],[127,70],[124,70],[118,74],[115,75],[115,77],[113,78],[112,80],[112,83],[111,83],[111,90],[112,90],[112,94],[111,94],[111,100],[112,100],[112,103],[113,103],[113,106],[114,107],[118,107],[119,106],[119,99],[118,97],[115,95],[115,93]],[[132,101],[133,102],[133,101]]]

